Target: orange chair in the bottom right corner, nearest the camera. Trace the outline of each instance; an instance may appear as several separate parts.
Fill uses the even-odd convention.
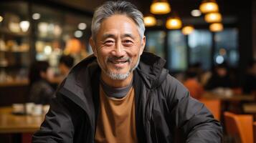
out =
[[[224,112],[225,127],[227,134],[234,137],[236,142],[252,143],[252,115],[250,114],[233,114]]]

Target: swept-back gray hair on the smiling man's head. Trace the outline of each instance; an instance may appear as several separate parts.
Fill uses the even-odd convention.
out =
[[[143,38],[145,25],[141,11],[138,11],[136,6],[128,1],[107,1],[102,6],[98,7],[93,14],[91,30],[94,41],[103,20],[115,14],[124,14],[125,16],[133,19],[138,27],[138,33],[140,34],[141,39]]]

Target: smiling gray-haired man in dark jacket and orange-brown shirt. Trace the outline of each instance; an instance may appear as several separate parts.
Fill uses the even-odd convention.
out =
[[[108,1],[93,16],[94,56],[67,76],[33,142],[221,142],[202,103],[144,52],[143,15]]]

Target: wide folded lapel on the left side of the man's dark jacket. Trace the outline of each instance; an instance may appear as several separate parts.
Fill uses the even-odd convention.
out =
[[[57,96],[67,97],[85,111],[88,115],[87,117],[89,117],[90,124],[95,124],[97,110],[95,107],[98,108],[98,106],[94,106],[94,98],[98,98],[98,91],[94,89],[98,88],[97,86],[99,85],[97,83],[100,77],[99,73],[100,67],[95,56],[88,56],[72,68],[57,89]],[[94,128],[92,127],[92,129]]]

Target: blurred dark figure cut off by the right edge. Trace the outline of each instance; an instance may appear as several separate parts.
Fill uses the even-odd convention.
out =
[[[250,61],[247,67],[242,92],[245,94],[256,93],[256,60]]]

